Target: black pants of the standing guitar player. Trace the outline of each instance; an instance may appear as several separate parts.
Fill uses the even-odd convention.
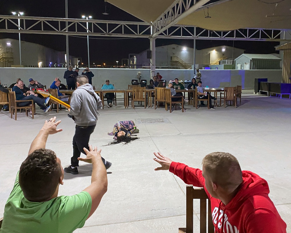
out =
[[[96,125],[93,126],[78,126],[76,125],[75,135],[73,137],[73,157],[71,158],[71,166],[76,167],[79,166],[78,158],[83,154],[86,154],[84,151],[84,147],[89,150],[89,139],[90,135],[93,133]],[[102,158],[102,157],[101,157]],[[105,159],[102,158],[102,161],[105,165]]]

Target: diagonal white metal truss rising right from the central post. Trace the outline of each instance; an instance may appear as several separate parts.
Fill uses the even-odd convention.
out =
[[[203,7],[210,0],[176,0],[153,22],[153,37],[178,23],[184,17]]]

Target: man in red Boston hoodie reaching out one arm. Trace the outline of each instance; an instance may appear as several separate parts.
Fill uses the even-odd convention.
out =
[[[229,153],[214,152],[202,160],[202,171],[176,163],[161,153],[154,158],[185,183],[203,187],[211,201],[212,220],[217,233],[286,233],[286,223],[269,198],[267,181],[242,171]]]

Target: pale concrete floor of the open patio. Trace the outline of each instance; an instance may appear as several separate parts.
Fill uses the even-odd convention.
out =
[[[251,91],[250,91],[251,92]],[[250,93],[249,92],[249,93]],[[166,171],[155,172],[153,152],[159,151],[174,161],[201,168],[202,158],[213,151],[232,153],[243,170],[251,170],[269,183],[270,198],[291,231],[290,131],[291,100],[244,94],[242,106],[197,110],[182,113],[136,107],[124,109],[123,101],[100,110],[90,143],[102,148],[102,156],[113,163],[108,170],[108,191],[93,216],[75,232],[167,232],[185,227],[185,187]],[[0,216],[12,190],[15,175],[33,138],[45,119],[57,116],[63,132],[50,135],[47,148],[56,152],[63,167],[70,165],[74,123],[62,110],[45,114],[38,110],[35,119],[19,114],[17,121],[0,112],[1,179]],[[136,123],[140,140],[129,145],[106,145],[112,141],[113,125],[122,120],[162,118],[163,123]],[[59,195],[80,192],[91,181],[91,165],[80,162],[79,175],[65,174]],[[194,224],[198,232],[199,207],[195,202]]]

